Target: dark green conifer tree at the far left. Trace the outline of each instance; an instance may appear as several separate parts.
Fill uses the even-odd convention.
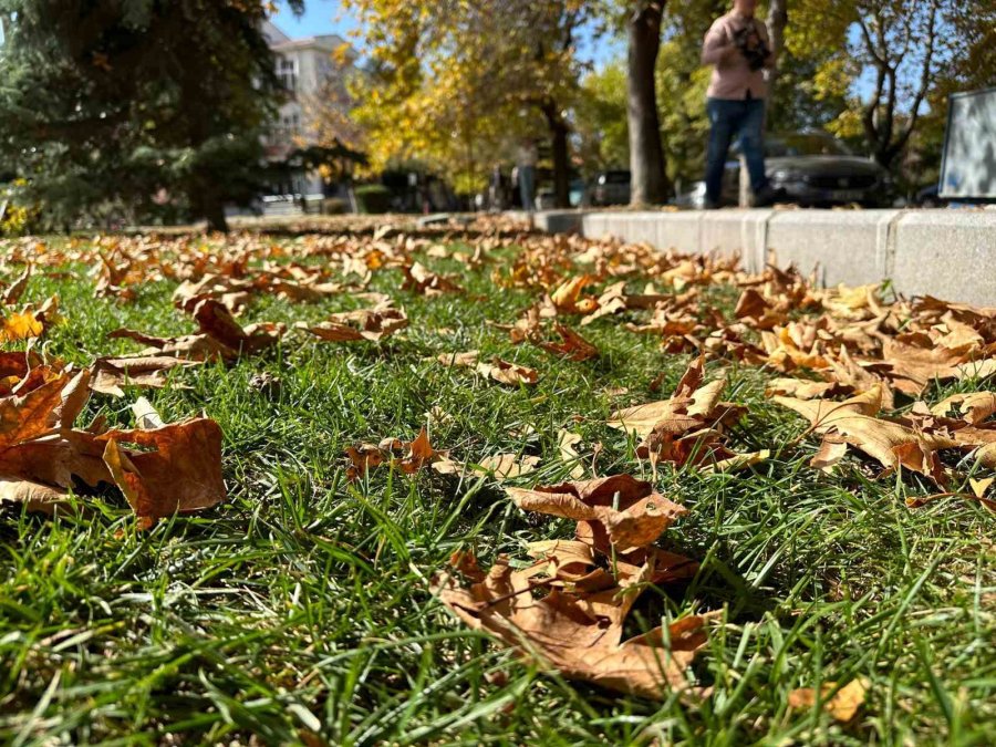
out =
[[[278,94],[262,4],[0,0],[0,168],[48,224],[166,190],[218,225],[251,197]]]

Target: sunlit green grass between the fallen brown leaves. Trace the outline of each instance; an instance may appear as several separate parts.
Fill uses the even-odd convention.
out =
[[[796,443],[806,424],[765,401],[767,374],[754,369],[727,366],[725,398],[750,407],[732,445],[776,454],[735,475],[661,470],[658,489],[691,509],[662,543],[702,567],[639,606],[646,626],[724,611],[693,667],[712,697],[649,702],[564,682],[458,623],[427,591],[454,550],[522,558],[526,542],[569,537],[570,522],[523,515],[483,478],[381,468],[350,484],[344,448],[409,439],[437,406],[453,419],[433,443],[455,459],[541,456],[518,484],[569,479],[563,427],[584,437],[585,464],[602,444],[600,474],[649,478],[634,444],[604,421],[661,396],[647,385],[662,370],[666,396],[687,363],[611,318],[585,328],[598,361],[513,347],[485,322],[513,321],[535,294],[496,290],[492,269],[464,277],[468,295],[435,299],[398,291],[397,270],[376,273],[373,287],[412,319],[381,345],[292,335],[262,356],[178,373],[188,390],[145,392],[167,421],[204,412],[221,425],[230,497],[217,509],[148,532],[113,495],[86,518],[0,509],[0,741],[269,745],[317,733],[335,745],[996,744],[993,516],[957,501],[911,511],[905,496],[930,486],[876,481],[853,455],[833,477],[811,470],[816,440]],[[106,339],[117,326],[193,329],[170,305],[173,288],[153,283],[120,305],[94,299],[82,274],[37,278],[25,300],[60,295],[66,321],[46,350],[86,364],[137,350]],[[262,299],[247,321],[355,305]],[[539,384],[500,386],[427,360],[474,347],[536,366]],[[279,391],[250,385],[261,372]],[[137,396],[96,395],[81,419],[128,424]],[[870,688],[850,725],[788,707],[795,688],[858,676]]]

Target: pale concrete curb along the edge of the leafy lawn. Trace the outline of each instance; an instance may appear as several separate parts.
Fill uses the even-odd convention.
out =
[[[996,305],[996,210],[553,210],[535,214],[533,226],[739,255],[751,272],[795,264],[826,286],[892,280],[904,295]]]

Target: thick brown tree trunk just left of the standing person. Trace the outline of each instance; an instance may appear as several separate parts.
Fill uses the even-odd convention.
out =
[[[664,168],[657,86],[654,72],[661,51],[664,0],[637,2],[629,33],[627,115],[630,125],[631,205],[661,205],[671,191]]]

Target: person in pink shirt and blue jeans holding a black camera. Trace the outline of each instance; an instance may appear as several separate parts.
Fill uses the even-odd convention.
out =
[[[717,208],[723,191],[726,156],[734,137],[750,174],[754,206],[775,201],[765,176],[765,71],[774,68],[775,54],[765,24],[755,18],[757,0],[734,0],[726,15],[716,19],[702,46],[702,64],[715,65],[706,93],[709,144],[706,153],[706,208]]]

